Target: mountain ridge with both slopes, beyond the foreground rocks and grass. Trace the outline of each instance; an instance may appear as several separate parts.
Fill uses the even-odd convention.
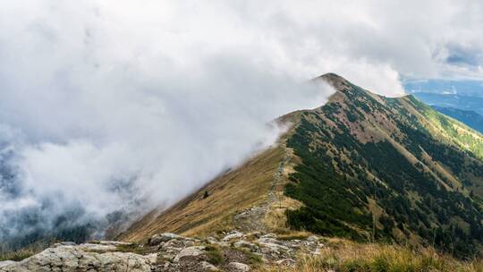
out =
[[[119,239],[290,227],[477,253],[483,242],[479,132],[412,96],[380,97],[335,74],[316,80],[337,92],[325,106],[281,117],[291,129],[277,147],[173,208],[151,212]]]

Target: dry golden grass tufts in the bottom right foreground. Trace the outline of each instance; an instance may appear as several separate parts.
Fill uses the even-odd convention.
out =
[[[264,267],[258,272],[483,272],[483,261],[462,261],[432,249],[418,251],[397,245],[361,244],[329,239],[319,255],[301,255],[297,266]]]

